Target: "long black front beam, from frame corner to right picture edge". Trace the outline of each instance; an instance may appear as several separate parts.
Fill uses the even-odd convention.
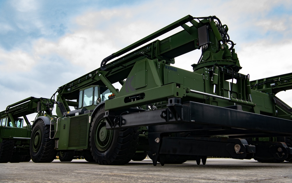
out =
[[[224,126],[273,134],[292,134],[292,121],[240,110],[226,109],[197,102],[191,107],[191,121],[197,124]]]

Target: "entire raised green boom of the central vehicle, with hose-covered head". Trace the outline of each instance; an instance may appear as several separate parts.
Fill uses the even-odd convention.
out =
[[[204,18],[204,19],[203,19]],[[194,19],[203,19],[199,22]],[[214,21],[216,20],[216,22]],[[192,26],[186,23],[190,22]],[[171,35],[163,40],[156,40],[139,49],[136,49],[112,62],[107,64],[107,61],[121,56],[146,42],[168,33],[169,31],[181,26],[184,30]],[[58,101],[64,103],[65,108],[69,111],[69,106],[66,105],[66,100],[76,100],[80,88],[89,85],[107,85],[112,93],[118,95],[118,91],[114,89],[112,83],[122,82],[128,77],[135,62],[141,59],[157,59],[158,61],[165,60],[166,64],[174,64],[174,58],[183,55],[195,49],[202,49],[202,57],[198,64],[193,64],[194,71],[206,66],[213,66],[215,63],[221,66],[235,65],[241,68],[237,55],[230,52],[227,44],[233,42],[229,40],[227,34],[228,28],[222,25],[220,20],[215,16],[194,18],[190,15],[158,30],[157,32],[133,43],[132,45],[121,49],[118,52],[106,57],[101,62],[101,68],[96,69],[74,81],[61,86],[58,92]],[[105,78],[106,76],[106,78]]]

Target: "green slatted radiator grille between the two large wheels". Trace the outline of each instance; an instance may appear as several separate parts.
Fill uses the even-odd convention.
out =
[[[70,119],[68,147],[80,147],[87,145],[88,115],[73,117]]]

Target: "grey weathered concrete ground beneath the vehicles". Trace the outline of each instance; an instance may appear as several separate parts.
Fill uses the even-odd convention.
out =
[[[151,160],[131,161],[122,166],[106,166],[85,160],[52,163],[2,163],[0,182],[292,182],[292,163],[258,163],[255,160],[208,158],[156,167]]]

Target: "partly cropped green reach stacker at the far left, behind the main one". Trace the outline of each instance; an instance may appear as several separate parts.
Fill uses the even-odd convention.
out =
[[[32,126],[27,115],[37,113],[38,116],[46,116],[52,109],[50,99],[29,97],[0,112],[0,163],[30,161]]]

